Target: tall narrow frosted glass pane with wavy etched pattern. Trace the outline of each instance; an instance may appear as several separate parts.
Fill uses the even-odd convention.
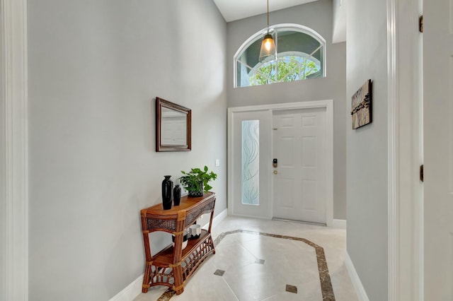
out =
[[[260,204],[260,121],[242,122],[242,203]]]

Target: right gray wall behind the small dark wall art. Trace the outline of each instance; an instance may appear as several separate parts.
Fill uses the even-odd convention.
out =
[[[348,145],[348,254],[369,300],[387,300],[386,2],[348,1],[348,105],[373,81],[373,122],[352,130]]]

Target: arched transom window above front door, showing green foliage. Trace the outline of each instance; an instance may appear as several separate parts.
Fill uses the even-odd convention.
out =
[[[259,61],[263,33],[251,36],[234,55],[234,86],[266,85],[326,76],[326,40],[297,24],[270,27],[276,56]]]

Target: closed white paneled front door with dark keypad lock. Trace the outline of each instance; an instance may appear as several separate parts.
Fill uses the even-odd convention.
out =
[[[326,108],[273,113],[273,217],[326,224]]]

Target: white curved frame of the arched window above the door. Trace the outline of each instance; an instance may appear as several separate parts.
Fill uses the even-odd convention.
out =
[[[277,31],[275,31],[277,30]],[[306,27],[304,25],[299,25],[299,24],[294,24],[294,23],[282,23],[282,24],[276,24],[276,25],[271,25],[269,27],[270,33],[276,32],[278,35],[278,31],[281,30],[293,30],[297,31],[299,33],[305,33],[306,35],[310,35],[311,37],[314,37],[318,42],[322,45],[323,47],[323,77],[326,77],[327,75],[327,49],[326,49],[326,39],[323,38],[322,35],[316,32],[316,30],[313,30],[312,28]],[[234,88],[237,88],[237,60],[240,54],[250,47],[253,42],[258,40],[260,37],[263,37],[266,33],[268,33],[268,28],[263,28],[262,30],[259,30],[257,33],[251,35],[251,37],[248,37],[248,39],[242,43],[241,47],[236,51],[236,54],[234,54],[233,57],[233,85]],[[277,36],[275,36],[275,40],[277,41]],[[277,50],[278,50],[278,45],[277,45]],[[287,52],[285,52],[287,53]]]

